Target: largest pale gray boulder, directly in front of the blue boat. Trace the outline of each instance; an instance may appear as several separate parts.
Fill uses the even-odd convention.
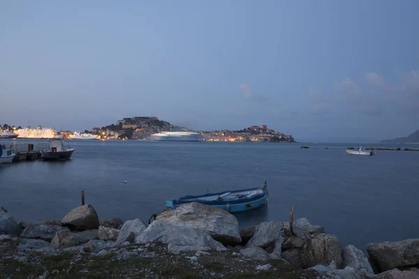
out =
[[[214,206],[191,202],[172,211],[166,211],[156,217],[163,223],[193,227],[210,234],[216,241],[224,244],[239,244],[239,223],[232,214]]]

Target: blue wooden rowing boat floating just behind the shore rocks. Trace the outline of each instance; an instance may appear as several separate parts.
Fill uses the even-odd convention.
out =
[[[186,196],[166,201],[166,206],[177,209],[182,204],[199,202],[218,207],[230,213],[257,209],[267,203],[266,181],[263,186],[244,190],[226,191],[198,196]]]

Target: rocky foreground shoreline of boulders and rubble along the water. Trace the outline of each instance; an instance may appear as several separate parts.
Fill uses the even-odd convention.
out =
[[[239,229],[205,204],[140,219],[99,220],[90,204],[57,220],[0,211],[0,278],[419,278],[419,239],[344,248],[306,218]]]

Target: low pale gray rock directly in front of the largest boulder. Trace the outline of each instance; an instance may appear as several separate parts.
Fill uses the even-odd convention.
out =
[[[172,246],[183,247],[185,250],[225,250],[225,247],[211,238],[205,232],[194,229],[193,227],[176,226],[161,221],[154,221],[145,229],[137,239],[136,243],[161,243]]]

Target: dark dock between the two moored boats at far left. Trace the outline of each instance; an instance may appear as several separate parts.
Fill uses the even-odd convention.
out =
[[[8,148],[15,153],[13,162],[21,162],[26,160],[38,160],[41,157],[41,151],[48,151],[47,142],[3,142]]]

